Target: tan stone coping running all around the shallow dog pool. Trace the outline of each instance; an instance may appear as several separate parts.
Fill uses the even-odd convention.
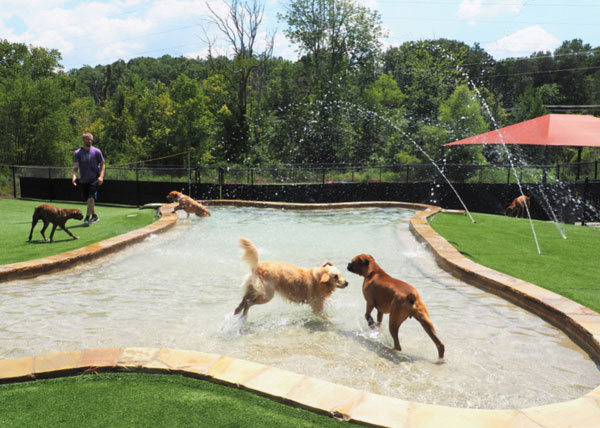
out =
[[[417,239],[433,252],[437,263],[468,283],[498,294],[562,329],[591,358],[600,361],[600,314],[533,284],[480,266],[462,256],[428,224],[438,207],[401,203],[277,204],[245,201],[207,201],[207,205],[254,206],[276,209],[408,208],[418,210],[410,220]],[[65,258],[50,257],[26,264],[0,266],[9,279],[39,275],[100,257],[172,226],[173,204],[161,207],[162,217],[136,233],[130,232],[87,248],[93,256],[75,250]],[[157,224],[159,223],[160,224]],[[156,225],[156,226],[154,226]],[[154,227],[151,227],[154,226]],[[117,239],[119,238],[119,239]],[[81,260],[78,259],[81,257]],[[34,263],[35,262],[35,263]],[[55,264],[56,263],[56,264]],[[15,266],[17,265],[17,266]],[[39,270],[36,265],[40,265]],[[6,268],[6,269],[5,269]],[[2,279],[0,279],[2,280]],[[275,367],[225,355],[159,348],[84,349],[33,357],[0,360],[0,383],[22,382],[96,371],[175,373],[243,388],[269,398],[340,419],[386,427],[599,427],[600,387],[575,400],[514,410],[463,409],[423,404],[348,388]],[[493,388],[493,385],[490,385]]]

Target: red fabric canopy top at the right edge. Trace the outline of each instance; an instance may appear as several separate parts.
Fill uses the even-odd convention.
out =
[[[574,114],[547,114],[444,145],[502,143],[600,147],[600,118]]]

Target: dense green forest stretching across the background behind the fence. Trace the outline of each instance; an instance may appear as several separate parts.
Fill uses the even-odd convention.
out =
[[[446,39],[383,49],[377,13],[328,0],[317,3],[331,13],[312,16],[307,3],[292,2],[281,17],[295,61],[234,37],[229,57],[141,57],[65,71],[55,49],[0,40],[0,164],[70,165],[83,132],[94,134],[109,166],[409,164],[549,112],[600,114],[590,109],[600,105],[600,47],[582,40],[499,61]],[[539,150],[523,155],[542,162]],[[556,148],[548,160],[575,155]],[[502,160],[482,147],[447,156]]]

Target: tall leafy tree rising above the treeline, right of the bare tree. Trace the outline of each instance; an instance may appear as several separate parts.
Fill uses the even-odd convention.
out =
[[[353,104],[351,83],[375,78],[384,34],[380,17],[354,0],[294,0],[280,19],[298,46],[308,82],[305,104],[311,108],[300,109],[307,113],[304,128],[310,128],[301,137],[304,159],[338,161],[355,138],[345,114]]]

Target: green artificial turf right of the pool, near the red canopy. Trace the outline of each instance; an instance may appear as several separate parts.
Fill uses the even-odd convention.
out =
[[[478,214],[430,219],[433,229],[464,256],[515,278],[539,285],[600,312],[600,228],[534,220],[538,254],[528,219]]]

